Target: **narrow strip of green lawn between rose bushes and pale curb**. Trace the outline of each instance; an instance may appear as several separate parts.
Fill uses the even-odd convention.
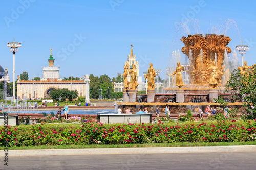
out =
[[[256,142],[216,142],[216,143],[146,143],[146,144],[88,144],[88,145],[40,145],[29,147],[9,147],[8,150],[26,149],[73,149],[73,148],[140,148],[140,147],[198,147],[198,146],[230,146],[256,145]],[[0,147],[4,150],[5,147]]]

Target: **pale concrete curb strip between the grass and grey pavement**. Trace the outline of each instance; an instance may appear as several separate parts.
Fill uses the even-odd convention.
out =
[[[205,152],[256,152],[256,145],[214,147],[152,147],[152,148],[83,148],[8,150],[8,156],[53,156],[53,155],[110,155],[110,154],[166,154]],[[5,155],[4,150],[0,155]]]

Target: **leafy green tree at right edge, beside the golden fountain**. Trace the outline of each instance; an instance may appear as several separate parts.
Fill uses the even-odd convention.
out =
[[[242,101],[248,119],[256,118],[256,70],[242,76],[235,69],[225,85],[225,92],[233,94],[234,102]]]

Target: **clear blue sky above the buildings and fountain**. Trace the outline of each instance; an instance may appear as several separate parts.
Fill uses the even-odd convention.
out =
[[[60,77],[81,77],[84,74],[111,78],[123,72],[130,54],[140,64],[140,76],[148,64],[162,69],[173,66],[170,54],[181,50],[184,30],[176,30],[178,22],[193,19],[191,33],[212,33],[216,30],[232,41],[228,47],[249,45],[245,60],[256,63],[254,1],[3,1],[0,10],[1,66],[8,67],[12,82],[13,58],[8,42],[21,42],[15,57],[15,79],[23,71],[29,78],[42,77],[47,66],[50,48]],[[227,27],[224,25],[230,22]],[[193,28],[199,27],[201,31]],[[216,29],[212,29],[216,28]],[[65,50],[66,49],[66,50]],[[231,55],[230,55],[231,56]],[[184,54],[181,53],[181,60]],[[238,57],[241,63],[241,56]],[[231,59],[230,59],[231,60]],[[181,62],[182,62],[181,61]]]

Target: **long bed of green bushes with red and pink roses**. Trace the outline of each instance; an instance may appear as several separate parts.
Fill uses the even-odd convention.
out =
[[[0,146],[256,141],[255,120],[157,124],[36,124],[0,130]]]

